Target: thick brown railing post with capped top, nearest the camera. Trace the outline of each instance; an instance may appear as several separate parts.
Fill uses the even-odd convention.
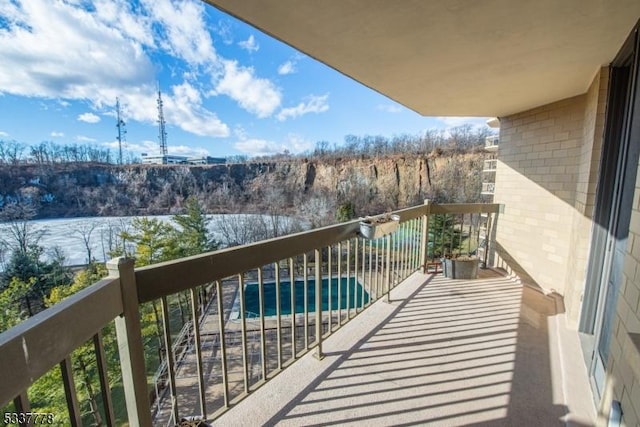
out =
[[[147,391],[138,289],[131,258],[115,258],[107,262],[109,276],[120,278],[122,315],[116,317],[116,336],[122,369],[127,415],[130,426],[151,426],[151,405]]]

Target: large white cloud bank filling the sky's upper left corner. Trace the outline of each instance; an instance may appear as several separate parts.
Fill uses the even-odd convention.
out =
[[[99,106],[112,103],[109,92],[115,88],[133,89],[152,79],[153,66],[142,46],[109,26],[102,9],[91,13],[47,0],[7,8],[10,24],[0,32],[0,57],[10,71],[0,73],[0,92],[87,99]]]

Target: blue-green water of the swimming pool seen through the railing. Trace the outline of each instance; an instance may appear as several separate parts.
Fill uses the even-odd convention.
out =
[[[369,303],[369,293],[366,292],[355,278],[347,281],[346,277],[341,279],[331,279],[331,309],[338,309],[338,293],[340,293],[340,308],[347,308],[347,292],[349,292],[349,307],[361,307],[364,292],[364,303]],[[304,281],[295,281],[295,312],[304,313]],[[258,284],[248,284],[245,286],[245,310],[251,313],[260,314],[260,299],[258,296]],[[316,311],[316,286],[315,280],[307,281],[307,310]],[[322,279],[322,311],[329,310],[329,279]],[[291,314],[291,282],[280,282],[280,313]],[[276,284],[264,284],[264,315],[275,316],[276,312]]]

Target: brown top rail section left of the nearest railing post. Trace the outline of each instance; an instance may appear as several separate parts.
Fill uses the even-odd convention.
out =
[[[0,333],[0,406],[120,313],[120,280],[108,277]]]

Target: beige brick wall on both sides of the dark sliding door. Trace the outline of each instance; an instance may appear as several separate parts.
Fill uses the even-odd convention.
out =
[[[599,173],[608,69],[584,95],[500,120],[495,201],[501,259],[523,281],[564,296],[567,320],[580,317]],[[640,426],[640,165],[627,254],[599,405],[606,425],[612,400],[625,426]]]

